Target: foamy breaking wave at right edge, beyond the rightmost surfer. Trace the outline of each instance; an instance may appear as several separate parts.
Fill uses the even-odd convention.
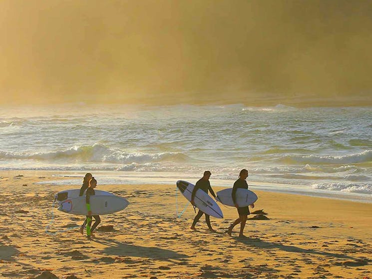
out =
[[[355,164],[372,161],[372,150],[344,156],[319,156],[319,155],[291,155],[280,159],[285,163],[304,163],[304,164]]]

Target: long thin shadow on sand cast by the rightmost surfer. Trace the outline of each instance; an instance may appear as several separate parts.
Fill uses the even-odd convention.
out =
[[[252,239],[252,238],[234,238],[236,241],[246,244],[247,246],[251,247],[258,247],[264,249],[280,249],[285,252],[292,252],[292,253],[300,253],[300,254],[313,254],[325,257],[332,257],[337,259],[350,259],[350,260],[357,260],[356,258],[347,256],[345,254],[335,254],[335,253],[328,253],[323,251],[317,251],[313,249],[303,249],[296,246],[289,246],[277,243],[270,243],[265,242],[260,239]]]

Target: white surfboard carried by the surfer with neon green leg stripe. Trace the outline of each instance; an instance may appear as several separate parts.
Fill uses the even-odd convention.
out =
[[[126,208],[128,204],[129,202],[125,198],[115,195],[90,196],[92,215],[104,215],[118,212]],[[60,203],[58,210],[74,215],[87,215],[86,197],[82,196],[64,200]]]

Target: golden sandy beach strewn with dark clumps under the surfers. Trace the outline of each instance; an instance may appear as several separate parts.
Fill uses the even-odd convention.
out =
[[[211,218],[217,233],[203,217],[194,232],[191,206],[176,218],[175,185],[98,181],[97,189],[130,205],[101,216],[87,240],[75,228],[82,216],[52,209],[54,194],[71,186],[34,184],[52,174],[0,172],[0,277],[372,278],[372,204],[257,192],[254,210],[264,209],[269,220],[248,220],[248,238],[239,239],[239,225],[232,237],[224,233],[236,209],[221,205],[224,219]],[[178,201],[182,210],[187,201],[181,194]]]

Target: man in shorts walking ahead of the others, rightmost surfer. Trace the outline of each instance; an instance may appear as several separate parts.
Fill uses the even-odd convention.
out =
[[[248,219],[248,215],[251,214],[251,213],[249,212],[249,206],[245,206],[245,207],[239,207],[238,206],[238,204],[236,202],[236,190],[238,188],[248,189],[248,184],[247,184],[247,181],[246,181],[247,177],[248,177],[248,170],[242,169],[240,171],[238,180],[235,181],[234,186],[233,186],[233,191],[231,193],[231,196],[233,198],[233,202],[234,202],[235,207],[238,209],[239,218],[236,219],[234,221],[234,223],[231,224],[231,226],[227,230],[227,234],[229,236],[231,236],[231,233],[233,232],[234,227],[240,223],[239,237],[240,238],[245,237],[243,235],[243,231],[244,231],[244,227],[245,227],[245,224],[247,222],[247,219]],[[254,207],[255,207],[255,205],[251,204],[251,208],[254,208]]]

